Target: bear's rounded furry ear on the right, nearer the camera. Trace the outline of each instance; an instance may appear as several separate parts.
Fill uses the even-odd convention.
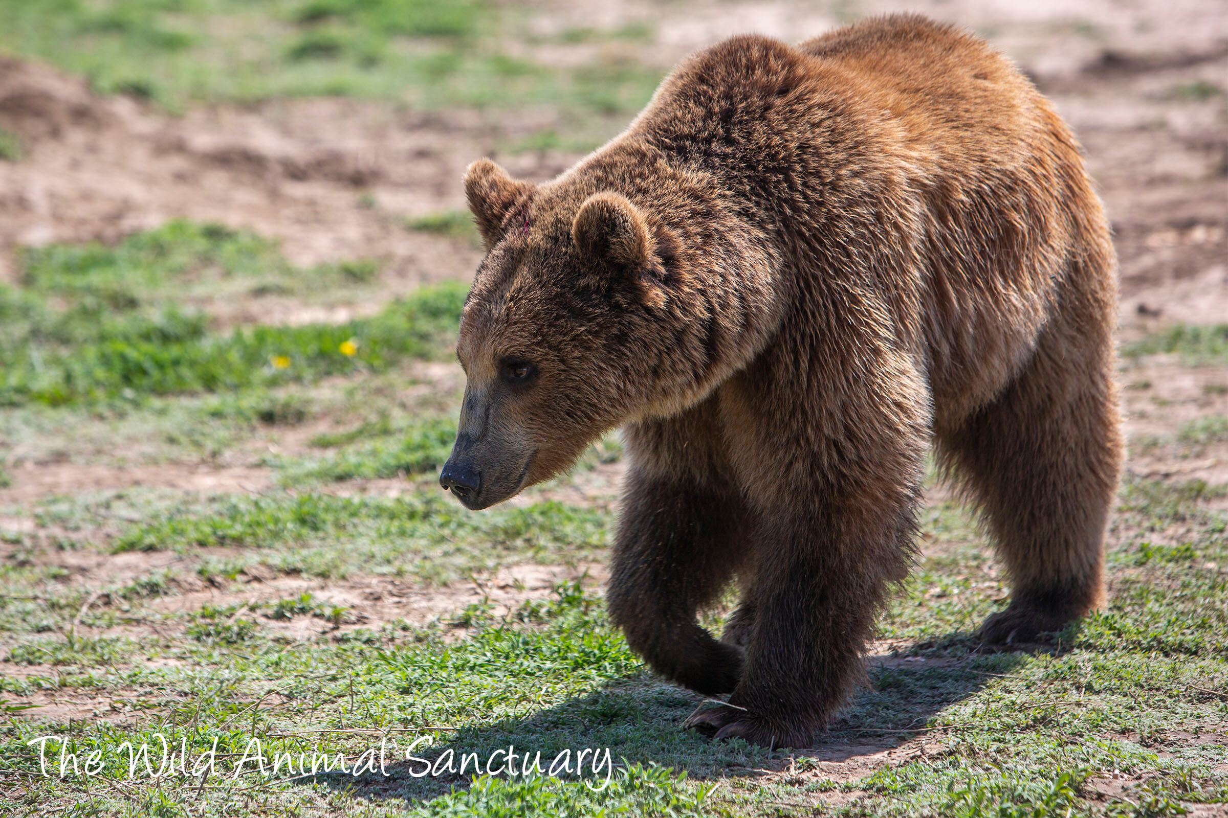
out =
[[[582,256],[630,278],[643,303],[666,303],[657,242],[643,213],[626,196],[599,193],[586,199],[571,223],[571,240]]]

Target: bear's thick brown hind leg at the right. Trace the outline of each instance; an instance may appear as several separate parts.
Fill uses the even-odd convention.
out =
[[[1014,381],[938,435],[1013,584],[1007,610],[981,627],[990,644],[1060,630],[1104,596],[1104,535],[1122,456],[1113,324],[1106,299],[1083,292],[1071,300]]]

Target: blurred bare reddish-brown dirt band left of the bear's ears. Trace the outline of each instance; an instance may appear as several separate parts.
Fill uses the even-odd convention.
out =
[[[281,239],[301,265],[377,259],[387,297],[467,276],[479,258],[404,226],[463,206],[460,174],[490,152],[492,132],[469,112],[307,99],[172,118],[99,98],[50,67],[0,59],[0,125],[32,146],[21,162],[0,164],[0,280],[14,275],[17,247],[113,242],[174,217]],[[510,164],[533,175],[564,167],[538,157]],[[270,315],[262,303],[247,318],[346,316]]]

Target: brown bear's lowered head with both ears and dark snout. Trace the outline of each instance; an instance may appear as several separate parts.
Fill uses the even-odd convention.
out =
[[[569,175],[517,182],[489,159],[464,185],[486,258],[460,318],[467,384],[441,483],[481,509],[607,430],[694,402],[716,327],[677,234],[626,196]]]

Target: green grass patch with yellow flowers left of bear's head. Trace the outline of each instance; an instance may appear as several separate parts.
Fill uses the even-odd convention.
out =
[[[458,321],[464,287],[443,285],[370,319],[211,332],[201,289],[292,281],[365,281],[341,264],[301,271],[275,245],[217,226],[171,222],[115,248],[54,245],[23,258],[22,288],[0,286],[0,405],[209,392],[378,370],[438,354]],[[220,282],[220,283],[219,283]],[[174,297],[178,294],[178,299]]]

